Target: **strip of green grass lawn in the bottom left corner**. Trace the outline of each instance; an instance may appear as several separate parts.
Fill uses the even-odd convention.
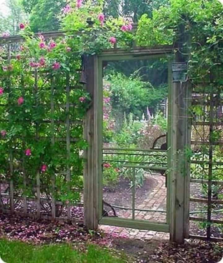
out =
[[[34,246],[19,241],[0,239],[0,257],[7,263],[125,263],[106,249],[90,245],[86,253],[70,245]]]

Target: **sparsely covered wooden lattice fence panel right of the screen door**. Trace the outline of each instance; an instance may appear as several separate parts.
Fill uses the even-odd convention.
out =
[[[223,240],[223,97],[214,83],[192,100],[191,237]]]

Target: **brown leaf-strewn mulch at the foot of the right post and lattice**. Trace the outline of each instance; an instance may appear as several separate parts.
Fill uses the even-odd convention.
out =
[[[168,241],[116,239],[116,249],[134,256],[134,263],[216,263],[223,256],[223,243],[187,240],[182,245]]]

